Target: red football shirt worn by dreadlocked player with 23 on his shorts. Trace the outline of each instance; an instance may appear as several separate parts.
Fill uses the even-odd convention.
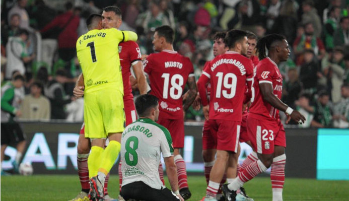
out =
[[[260,83],[272,84],[273,94],[281,99],[283,93],[283,77],[278,70],[276,63],[269,57],[259,61],[256,67],[256,76],[254,77],[254,83],[252,85],[252,104],[249,109],[249,115],[258,119],[262,116],[277,120],[279,119],[278,110],[263,100],[262,94],[259,90]]]

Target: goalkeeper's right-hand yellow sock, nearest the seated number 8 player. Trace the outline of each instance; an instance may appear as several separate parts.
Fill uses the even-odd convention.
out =
[[[110,169],[113,167],[117,156],[119,155],[121,144],[117,141],[110,141],[107,148],[102,153],[101,163],[98,172],[102,172],[107,175]],[[91,154],[90,154],[91,156]],[[90,166],[89,166],[90,168]],[[96,173],[97,174],[97,173]]]

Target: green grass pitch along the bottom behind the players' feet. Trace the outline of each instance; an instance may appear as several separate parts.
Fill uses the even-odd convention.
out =
[[[165,179],[167,181],[167,178]],[[118,195],[118,177],[111,176],[108,191]],[[200,200],[205,194],[204,176],[189,176],[189,201]],[[168,182],[166,182],[168,185]],[[271,200],[271,183],[267,177],[257,177],[245,184],[248,195],[255,201]],[[1,200],[66,201],[80,192],[78,175],[2,176]],[[284,200],[349,200],[349,181],[319,181],[286,178]]]

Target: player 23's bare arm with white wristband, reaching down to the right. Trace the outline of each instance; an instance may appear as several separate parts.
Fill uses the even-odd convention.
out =
[[[263,100],[268,102],[274,108],[285,112],[290,115],[290,117],[298,123],[304,123],[305,117],[296,110],[293,110],[291,107],[287,106],[283,101],[278,99],[273,94],[272,84],[269,82],[259,83],[259,88],[262,93]]]

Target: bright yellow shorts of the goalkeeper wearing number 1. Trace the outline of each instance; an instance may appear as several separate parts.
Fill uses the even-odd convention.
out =
[[[125,129],[123,95],[116,89],[102,89],[84,96],[85,138],[106,138]]]

